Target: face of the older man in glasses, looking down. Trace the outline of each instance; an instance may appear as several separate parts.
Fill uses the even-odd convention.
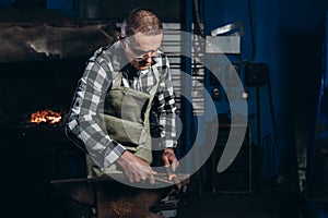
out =
[[[137,70],[147,70],[153,63],[153,58],[161,47],[163,34],[144,35],[137,33],[125,43],[125,51],[128,60]]]

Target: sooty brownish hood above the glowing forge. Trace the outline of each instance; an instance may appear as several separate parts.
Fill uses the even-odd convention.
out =
[[[86,59],[113,44],[108,22],[22,23],[0,25],[0,62]]]

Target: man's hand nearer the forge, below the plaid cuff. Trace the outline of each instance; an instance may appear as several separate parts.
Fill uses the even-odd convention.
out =
[[[153,171],[145,160],[134,156],[130,152],[126,150],[117,159],[117,164],[124,169],[124,173],[130,182],[140,182],[148,179],[151,184],[155,183],[154,175],[157,172]]]

